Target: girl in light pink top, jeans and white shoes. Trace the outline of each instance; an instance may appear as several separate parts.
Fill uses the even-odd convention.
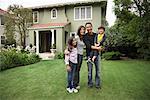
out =
[[[73,37],[68,40],[68,47],[65,50],[65,64],[68,72],[67,91],[77,93],[78,90],[74,84],[74,74],[77,67],[77,42]]]

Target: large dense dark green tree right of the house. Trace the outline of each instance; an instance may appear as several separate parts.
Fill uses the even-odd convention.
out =
[[[122,41],[124,45],[135,46],[139,57],[150,59],[150,2],[148,0],[114,0],[114,3],[117,21],[112,33],[117,31],[117,34],[125,37],[123,39],[126,41]]]

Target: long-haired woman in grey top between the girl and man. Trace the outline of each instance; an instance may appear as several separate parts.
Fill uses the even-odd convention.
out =
[[[77,65],[77,68],[75,70],[75,77],[74,77],[74,84],[75,84],[75,87],[76,89],[80,89],[80,85],[79,85],[79,82],[80,82],[80,68],[81,68],[81,65],[82,65],[82,60],[83,60],[83,49],[84,49],[84,42],[83,42],[83,36],[85,34],[85,27],[84,26],[80,26],[78,28],[78,31],[77,31],[77,53],[78,53],[78,56],[77,56],[77,61],[78,61],[78,65]]]

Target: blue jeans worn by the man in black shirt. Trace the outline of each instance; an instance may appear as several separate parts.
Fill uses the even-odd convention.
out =
[[[99,65],[99,55],[96,57],[94,61],[95,65],[95,84],[96,86],[100,87],[100,65]],[[93,64],[91,62],[87,62],[88,65],[88,86],[93,86],[93,81],[92,81],[92,69],[93,69]]]

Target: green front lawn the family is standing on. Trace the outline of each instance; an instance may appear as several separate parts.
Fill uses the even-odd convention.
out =
[[[150,62],[102,61],[102,89],[87,87],[87,66],[81,69],[81,89],[66,92],[62,60],[41,61],[0,72],[0,100],[150,100]],[[93,76],[94,77],[94,76]]]

